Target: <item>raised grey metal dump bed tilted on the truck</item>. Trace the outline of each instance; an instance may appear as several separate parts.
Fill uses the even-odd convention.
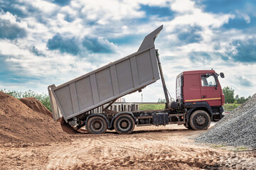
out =
[[[137,52],[76,79],[48,86],[53,119],[65,121],[143,89],[159,79],[154,40],[160,26],[146,35]]]

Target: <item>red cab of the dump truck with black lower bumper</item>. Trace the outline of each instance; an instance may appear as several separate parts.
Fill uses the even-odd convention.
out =
[[[219,74],[215,73],[213,69],[178,74],[176,78],[176,101],[181,108],[185,108],[187,111],[187,128],[191,128],[191,124],[193,124],[190,123],[193,121],[192,115],[198,115],[194,118],[198,125],[207,120],[206,116],[209,116],[211,121],[218,121],[223,117],[225,97],[218,76]],[[223,78],[224,74],[220,73],[220,77]],[[193,129],[197,128],[194,127]]]

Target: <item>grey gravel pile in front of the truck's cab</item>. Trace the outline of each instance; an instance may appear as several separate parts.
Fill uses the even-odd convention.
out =
[[[195,140],[196,142],[256,147],[256,94]]]

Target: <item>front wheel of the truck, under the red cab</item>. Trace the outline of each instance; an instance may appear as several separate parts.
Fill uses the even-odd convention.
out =
[[[206,111],[194,111],[189,118],[193,130],[206,130],[210,126],[210,115]]]

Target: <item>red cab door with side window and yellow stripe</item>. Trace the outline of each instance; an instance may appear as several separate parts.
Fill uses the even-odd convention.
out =
[[[221,106],[221,87],[215,74],[201,74],[201,101],[210,106]]]

